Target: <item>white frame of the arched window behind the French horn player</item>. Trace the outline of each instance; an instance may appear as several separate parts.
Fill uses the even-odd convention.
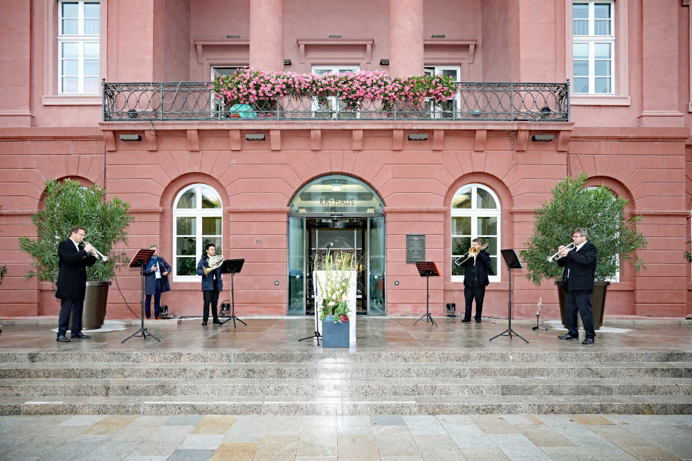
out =
[[[217,196],[219,196],[219,200],[221,201],[221,206],[219,208],[202,208],[201,207],[201,200],[202,200],[202,194],[201,194],[201,189],[203,187],[206,187],[212,191],[214,191]],[[198,189],[197,194],[195,195],[195,200],[196,200],[196,207],[195,208],[183,208],[179,209],[178,208],[178,203],[185,194],[185,192],[189,191],[190,189]],[[171,263],[172,266],[172,273],[173,273],[173,281],[174,282],[199,282],[201,279],[201,276],[194,274],[194,275],[178,275],[178,258],[179,257],[188,257],[190,258],[191,256],[188,254],[178,254],[178,226],[177,226],[177,218],[190,218],[194,217],[195,219],[195,254],[194,254],[194,265],[197,267],[197,263],[199,262],[199,258],[201,258],[202,253],[204,251],[202,244],[203,244],[203,234],[202,234],[202,218],[208,218],[208,217],[214,217],[214,218],[221,218],[221,234],[215,234],[215,238],[220,238],[221,239],[221,245],[217,245],[217,254],[223,254],[224,250],[224,199],[221,198],[221,194],[219,194],[219,191],[215,189],[215,187],[212,187],[211,185],[205,184],[203,182],[196,182],[194,184],[188,185],[186,187],[183,187],[178,194],[176,194],[175,199],[173,200],[173,223],[172,223],[172,236],[173,236],[173,242],[172,242],[172,256],[173,256],[173,261]]]

